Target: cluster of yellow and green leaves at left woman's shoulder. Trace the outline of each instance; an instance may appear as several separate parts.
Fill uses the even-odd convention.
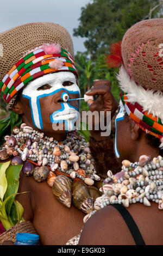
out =
[[[15,200],[22,164],[9,164],[10,161],[0,163],[0,221],[6,230],[23,221],[23,207]]]

